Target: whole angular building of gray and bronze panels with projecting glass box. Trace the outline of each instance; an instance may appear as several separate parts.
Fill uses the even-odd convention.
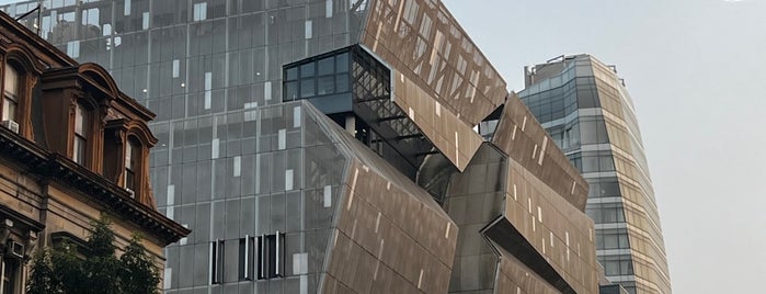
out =
[[[439,1],[42,3],[158,113],[167,293],[598,292],[586,181]]]

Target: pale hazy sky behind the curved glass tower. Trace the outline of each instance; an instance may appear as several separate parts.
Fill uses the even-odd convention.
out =
[[[444,0],[508,90],[587,53],[631,93],[674,293],[762,293],[766,0]]]

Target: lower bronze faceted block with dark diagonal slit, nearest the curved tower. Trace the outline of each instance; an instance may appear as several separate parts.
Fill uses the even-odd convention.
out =
[[[597,293],[593,222],[491,143],[453,176],[444,207],[461,231],[450,292]]]

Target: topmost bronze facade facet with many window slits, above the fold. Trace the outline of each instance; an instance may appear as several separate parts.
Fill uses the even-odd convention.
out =
[[[505,99],[505,81],[441,1],[370,1],[359,43],[469,125]]]

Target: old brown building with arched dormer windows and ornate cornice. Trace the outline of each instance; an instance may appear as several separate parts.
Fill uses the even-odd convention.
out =
[[[24,293],[31,257],[64,241],[83,246],[101,216],[117,248],[139,234],[163,267],[162,249],[190,231],[155,204],[155,114],[104,68],[78,64],[5,13],[0,77],[0,292]]]

